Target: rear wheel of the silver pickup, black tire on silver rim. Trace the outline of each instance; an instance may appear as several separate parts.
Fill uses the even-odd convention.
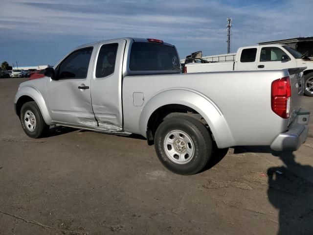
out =
[[[185,150],[177,149],[177,146],[181,148],[180,145],[177,145],[177,141],[180,139],[173,136],[174,134],[177,136],[178,133],[182,133],[183,137],[181,138],[185,138],[183,139],[184,143],[180,142],[181,146],[186,146],[188,151],[192,151],[193,153],[190,154],[192,156],[187,153],[186,148]],[[173,141],[173,145],[166,143],[165,140]],[[169,152],[173,146],[173,156],[169,157],[171,155]],[[155,149],[157,157],[167,169],[181,175],[193,175],[200,172],[208,163],[212,154],[212,138],[207,128],[197,119],[188,116],[177,116],[165,119],[158,126],[155,135]],[[179,153],[178,151],[185,152]],[[176,157],[175,152],[177,153]],[[181,154],[182,157],[179,158],[178,154]],[[185,156],[183,156],[184,154]],[[179,161],[186,162],[179,164],[177,163]]]

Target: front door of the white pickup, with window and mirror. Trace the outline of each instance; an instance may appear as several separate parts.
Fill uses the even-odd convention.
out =
[[[280,47],[260,46],[257,70],[296,68],[293,56]]]

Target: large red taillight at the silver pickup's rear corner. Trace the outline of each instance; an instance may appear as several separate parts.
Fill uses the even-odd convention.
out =
[[[291,106],[290,77],[283,77],[272,82],[271,105],[275,114],[289,118]]]

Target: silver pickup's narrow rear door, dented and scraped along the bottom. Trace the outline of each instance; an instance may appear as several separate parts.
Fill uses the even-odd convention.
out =
[[[100,43],[91,79],[94,116],[104,131],[118,132],[123,127],[122,64],[126,40]]]

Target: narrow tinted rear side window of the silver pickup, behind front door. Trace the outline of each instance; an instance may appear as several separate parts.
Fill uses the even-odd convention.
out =
[[[118,43],[102,45],[99,51],[96,77],[106,77],[114,73]]]

